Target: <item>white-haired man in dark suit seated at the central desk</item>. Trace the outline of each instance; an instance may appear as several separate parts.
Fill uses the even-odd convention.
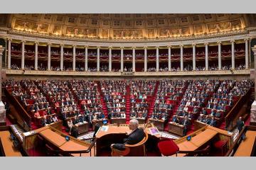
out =
[[[111,147],[114,149],[124,150],[125,144],[134,145],[142,141],[144,138],[144,130],[142,128],[138,128],[139,122],[137,119],[132,119],[129,121],[129,129],[132,130],[131,133],[127,133],[129,135],[124,139],[124,144],[112,144]]]

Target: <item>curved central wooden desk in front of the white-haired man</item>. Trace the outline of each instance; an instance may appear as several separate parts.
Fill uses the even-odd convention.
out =
[[[107,127],[107,130],[102,130],[102,128]],[[142,127],[142,125],[140,125]],[[110,145],[114,143],[124,143],[123,140],[124,138],[127,137],[126,132],[131,132],[129,130],[129,126],[127,124],[124,125],[107,125],[107,126],[102,126],[96,134],[97,138],[97,144],[96,144],[96,156],[110,156],[111,149]],[[159,141],[161,135],[151,135],[148,129],[145,129],[145,132],[149,134],[149,140],[146,142],[149,144],[149,142],[154,143],[154,145],[157,144]],[[103,153],[104,151],[109,152],[108,155],[105,155]]]

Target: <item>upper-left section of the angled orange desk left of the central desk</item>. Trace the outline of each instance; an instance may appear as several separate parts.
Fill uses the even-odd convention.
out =
[[[53,132],[53,130],[50,129],[43,130],[39,132],[39,134],[46,138],[46,140],[48,140],[49,142],[53,143],[53,145],[55,145],[56,147],[60,147],[65,142],[67,142],[65,140],[65,137],[57,135],[55,132]]]

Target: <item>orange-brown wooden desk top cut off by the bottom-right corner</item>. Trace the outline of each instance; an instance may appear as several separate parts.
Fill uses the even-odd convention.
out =
[[[250,157],[255,137],[256,131],[247,130],[245,133],[245,140],[240,143],[234,157]]]

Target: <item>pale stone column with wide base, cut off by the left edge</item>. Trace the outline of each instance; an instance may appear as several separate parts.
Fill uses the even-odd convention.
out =
[[[4,47],[0,45],[0,81],[1,81],[3,52],[4,52]],[[0,82],[0,126],[6,126],[6,110],[4,107],[4,103],[1,101],[1,82]]]

